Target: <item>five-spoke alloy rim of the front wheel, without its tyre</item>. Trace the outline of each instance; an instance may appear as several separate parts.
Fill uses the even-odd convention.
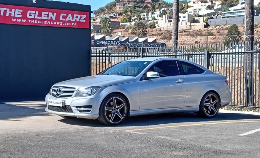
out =
[[[110,123],[119,123],[126,115],[126,103],[119,97],[112,97],[106,104],[105,116]]]

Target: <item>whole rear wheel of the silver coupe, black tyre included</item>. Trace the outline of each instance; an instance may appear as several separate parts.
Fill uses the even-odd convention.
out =
[[[218,115],[220,100],[218,95],[213,92],[207,92],[199,105],[198,115],[203,118],[214,118]]]

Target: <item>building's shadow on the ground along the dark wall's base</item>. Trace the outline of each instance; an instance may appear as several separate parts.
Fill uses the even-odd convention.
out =
[[[49,115],[45,107],[45,104],[0,103],[0,120]]]

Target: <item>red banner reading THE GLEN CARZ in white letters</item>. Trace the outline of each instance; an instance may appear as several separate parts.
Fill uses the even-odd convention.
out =
[[[0,4],[0,23],[89,29],[89,12]]]

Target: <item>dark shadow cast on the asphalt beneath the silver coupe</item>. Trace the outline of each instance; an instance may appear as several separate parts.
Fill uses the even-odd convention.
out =
[[[131,127],[131,126],[152,126],[163,125],[169,123],[192,123],[192,122],[210,122],[210,121],[225,121],[225,120],[246,120],[260,119],[259,115],[241,114],[241,113],[219,113],[213,119],[200,118],[196,113],[169,113],[169,114],[154,114],[128,117],[126,120],[115,127]],[[98,120],[89,120],[83,118],[77,119],[61,119],[62,123],[77,125],[77,126],[92,126],[92,127],[111,127],[102,125]]]

